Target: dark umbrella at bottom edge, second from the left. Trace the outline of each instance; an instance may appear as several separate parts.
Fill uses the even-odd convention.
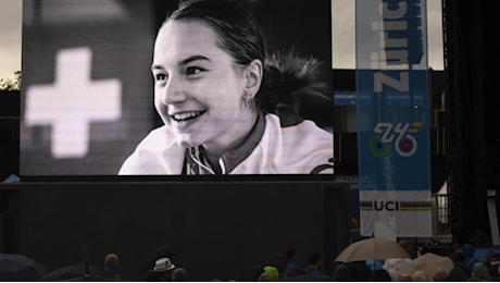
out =
[[[40,281],[112,281],[112,275],[104,270],[82,262],[73,266],[61,267],[52,270]]]

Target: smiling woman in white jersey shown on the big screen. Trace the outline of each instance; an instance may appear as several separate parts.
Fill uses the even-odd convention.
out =
[[[118,174],[332,174],[333,131],[301,113],[330,103],[321,64],[297,52],[268,56],[238,1],[180,2],[154,41],[154,106],[164,125]]]

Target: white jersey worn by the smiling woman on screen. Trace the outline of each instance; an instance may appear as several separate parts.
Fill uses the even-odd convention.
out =
[[[282,127],[279,118],[266,114],[261,138],[235,164],[220,160],[223,174],[317,174],[334,173],[333,134],[304,120]],[[253,134],[252,134],[253,135]],[[260,135],[260,134],[259,134]],[[166,126],[151,131],[122,165],[120,175],[185,174],[189,150],[175,143]]]

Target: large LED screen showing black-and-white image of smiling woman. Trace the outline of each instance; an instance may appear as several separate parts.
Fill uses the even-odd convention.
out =
[[[20,173],[332,176],[330,37],[329,0],[24,0]]]

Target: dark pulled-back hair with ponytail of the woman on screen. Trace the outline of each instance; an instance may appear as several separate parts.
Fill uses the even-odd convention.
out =
[[[220,47],[236,63],[248,65],[255,59],[262,61],[262,85],[254,98],[255,106],[262,111],[310,118],[304,112],[311,112],[311,104],[330,104],[326,84],[318,82],[322,63],[313,58],[301,58],[293,49],[267,56],[259,23],[251,9],[241,2],[184,0],[164,23],[182,20],[202,21],[212,26],[218,34]]]

